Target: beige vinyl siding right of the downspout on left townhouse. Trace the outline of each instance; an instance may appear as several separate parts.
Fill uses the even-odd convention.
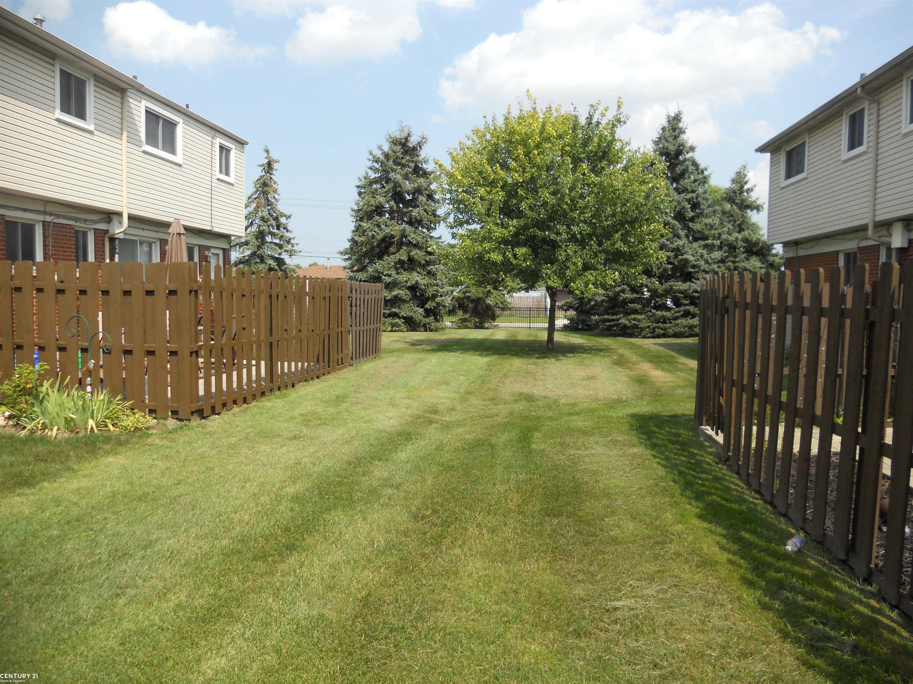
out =
[[[142,150],[142,100],[182,119],[182,163]],[[235,145],[234,185],[215,178],[214,137]],[[244,234],[244,146],[142,93],[130,92],[127,170],[131,214],[233,235]]]

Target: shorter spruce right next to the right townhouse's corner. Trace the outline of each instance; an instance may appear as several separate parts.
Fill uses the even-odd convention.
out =
[[[729,187],[722,192],[719,207],[714,251],[719,254],[720,271],[777,270],[782,266],[782,255],[774,252],[761,226],[751,218],[751,212],[760,212],[764,204],[754,198],[754,186],[749,185],[745,164],[733,174]]]

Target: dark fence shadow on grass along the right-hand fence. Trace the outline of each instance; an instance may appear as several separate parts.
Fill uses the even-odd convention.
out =
[[[792,527],[723,468],[693,430],[689,415],[634,415],[633,427],[698,516],[724,540],[731,572],[758,595],[783,637],[803,649],[803,664],[834,682],[913,680],[908,621],[860,586],[824,549],[783,551]]]

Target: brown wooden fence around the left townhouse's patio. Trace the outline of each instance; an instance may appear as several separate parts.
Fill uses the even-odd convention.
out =
[[[0,262],[0,381],[37,354],[45,378],[187,420],[380,354],[383,285],[196,267]]]

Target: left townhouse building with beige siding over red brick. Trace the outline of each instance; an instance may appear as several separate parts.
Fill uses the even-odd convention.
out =
[[[246,145],[0,6],[0,260],[230,264]]]

